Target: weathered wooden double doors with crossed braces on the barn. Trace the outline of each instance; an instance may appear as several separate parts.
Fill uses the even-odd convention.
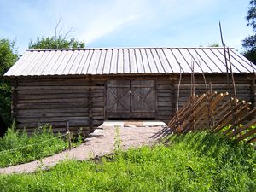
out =
[[[107,119],[154,119],[154,80],[110,80],[107,82]]]

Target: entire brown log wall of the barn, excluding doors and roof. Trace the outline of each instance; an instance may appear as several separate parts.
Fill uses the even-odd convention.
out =
[[[225,74],[208,74],[207,86],[212,91],[226,92]],[[53,125],[53,131],[63,132],[66,121],[71,131],[88,134],[106,120],[106,89],[109,80],[154,80],[154,119],[167,123],[176,110],[179,74],[144,76],[84,76],[73,78],[30,78],[13,81],[13,117],[19,129],[32,132],[38,125]],[[236,93],[239,99],[255,103],[253,75],[236,74]],[[206,92],[201,74],[195,75],[195,94]],[[183,74],[180,85],[179,108],[191,94],[190,74]],[[136,118],[140,119],[140,118]]]

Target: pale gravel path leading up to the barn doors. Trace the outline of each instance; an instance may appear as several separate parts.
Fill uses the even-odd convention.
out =
[[[85,143],[78,148],[70,151],[64,151],[60,154],[44,158],[42,161],[36,160],[30,163],[17,166],[0,168],[0,173],[21,173],[35,172],[38,169],[47,169],[55,166],[58,162],[67,159],[86,160],[96,155],[102,156],[113,152],[115,129],[113,126],[103,126],[102,131],[96,131],[86,139]],[[155,143],[165,134],[166,129],[163,126],[153,127],[120,127],[120,138],[122,148],[138,147],[143,144]]]

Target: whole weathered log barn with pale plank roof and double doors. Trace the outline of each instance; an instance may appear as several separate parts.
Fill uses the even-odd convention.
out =
[[[192,71],[196,94],[206,92],[205,79],[208,89],[228,91],[225,54],[238,98],[255,105],[256,67],[235,49],[29,49],[4,77],[18,129],[62,132],[68,121],[89,133],[108,119],[168,122],[190,96]]]

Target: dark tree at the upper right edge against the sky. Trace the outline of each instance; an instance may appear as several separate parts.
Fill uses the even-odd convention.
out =
[[[248,60],[256,63],[256,0],[250,1],[246,20],[247,26],[253,27],[254,34],[242,41],[242,46],[246,49],[244,55]]]

